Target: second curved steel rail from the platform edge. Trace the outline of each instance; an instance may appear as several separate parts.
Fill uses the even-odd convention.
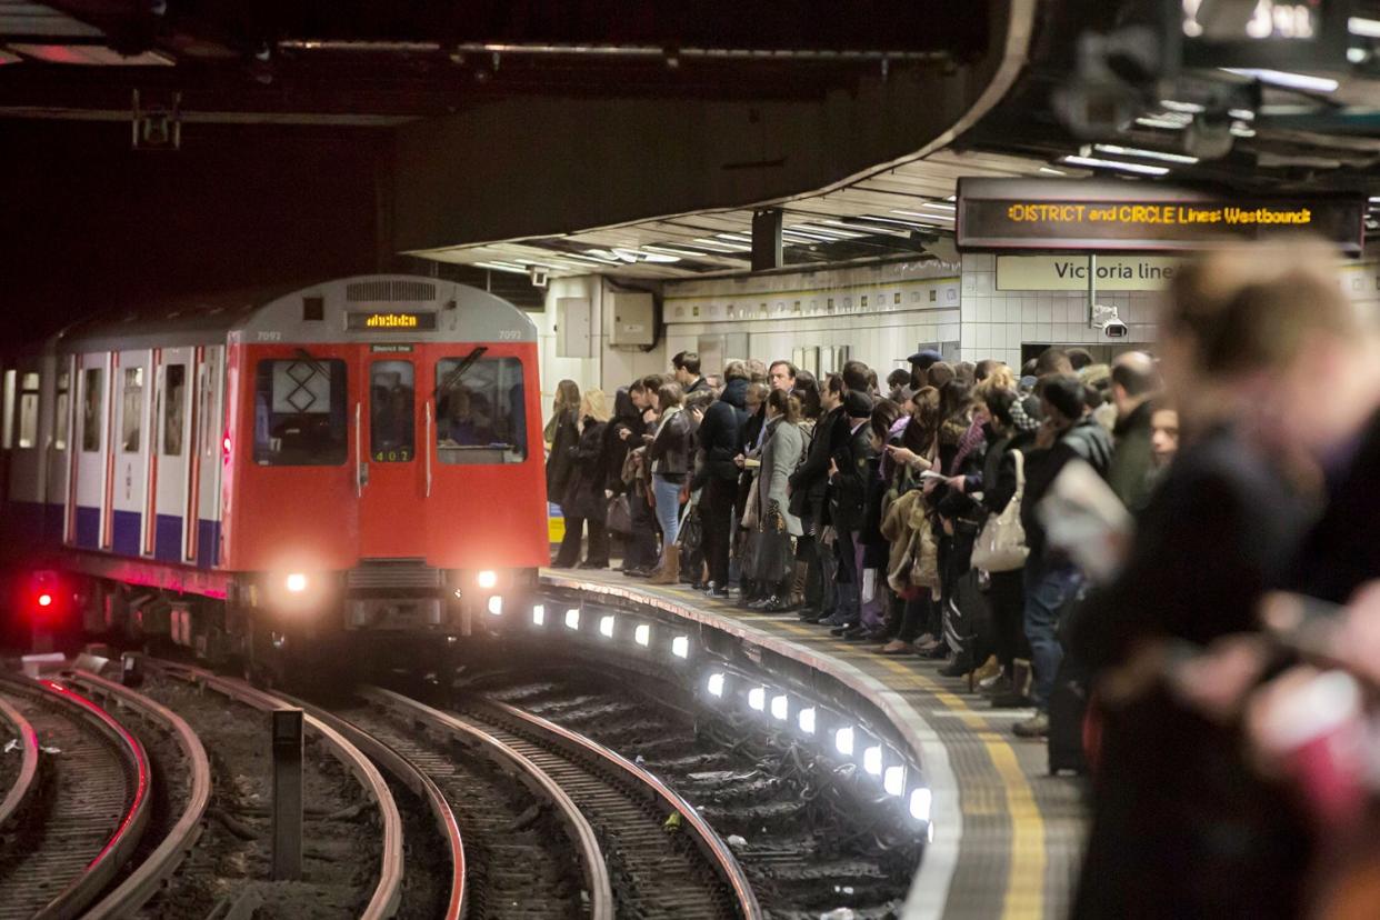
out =
[[[546,775],[541,767],[489,732],[410,697],[393,692],[392,690],[384,690],[382,687],[360,687],[356,692],[381,709],[410,720],[431,724],[461,739],[466,746],[498,763],[505,771],[516,768],[518,778],[524,786],[556,807],[556,812],[566,826],[570,841],[580,850],[580,862],[585,874],[585,886],[589,891],[589,919],[613,920],[613,883],[609,879],[609,866],[599,846],[599,836],[595,833],[589,819],[580,811],[574,800],[571,800],[570,794],[555,779]]]

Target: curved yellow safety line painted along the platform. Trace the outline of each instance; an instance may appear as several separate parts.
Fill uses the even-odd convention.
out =
[[[771,621],[789,633],[820,639],[817,629],[791,622]],[[851,650],[847,650],[851,651]],[[854,658],[854,655],[840,655]],[[862,655],[857,655],[861,658]],[[927,676],[908,668],[901,662],[878,655],[878,663],[886,670],[901,677],[904,683],[919,687],[925,692],[938,699],[965,726],[972,728],[987,756],[996,768],[996,775],[1002,778],[1006,793],[1006,812],[1012,818],[1012,859],[1006,874],[1006,894],[1002,898],[1002,916],[1012,920],[1020,917],[1045,916],[1045,818],[1035,803],[1035,792],[1031,789],[1025,772],[1016,757],[1016,750],[1002,735],[994,732],[991,726],[980,714],[973,712],[967,702],[955,692],[951,692]]]

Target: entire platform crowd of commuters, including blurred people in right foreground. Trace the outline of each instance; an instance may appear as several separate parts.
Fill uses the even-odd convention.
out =
[[[720,381],[682,353],[611,414],[563,382],[555,564],[588,524],[581,564],[609,566],[613,528],[628,575],[945,659],[1032,710],[1014,731],[1050,735],[1052,767],[1071,734],[1078,917],[1380,916],[1380,337],[1334,262],[1212,254],[1176,274],[1158,357],[1110,366],[922,350],[885,383]],[[1129,526],[1085,553],[1068,508],[1093,492]]]

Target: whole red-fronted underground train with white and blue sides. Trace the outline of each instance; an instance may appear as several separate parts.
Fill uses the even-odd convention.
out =
[[[6,364],[6,541],[46,560],[26,603],[51,608],[30,612],[213,658],[454,636],[548,557],[537,330],[483,291],[189,299]]]

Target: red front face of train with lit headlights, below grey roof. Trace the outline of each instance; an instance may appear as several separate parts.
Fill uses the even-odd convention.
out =
[[[468,634],[546,559],[535,342],[360,338],[232,343],[224,564],[275,636]]]

